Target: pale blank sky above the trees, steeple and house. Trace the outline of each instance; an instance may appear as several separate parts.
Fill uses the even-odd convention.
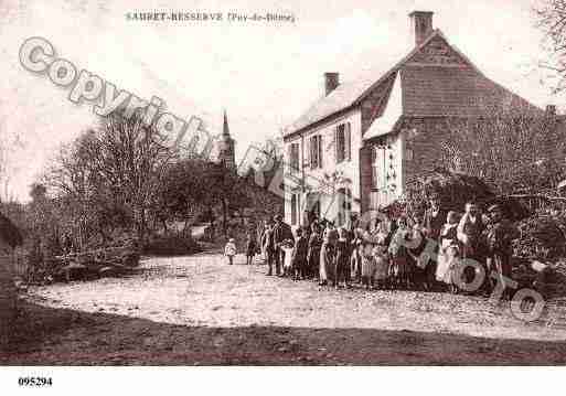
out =
[[[134,6],[135,4],[135,6]],[[534,3],[527,0],[396,1],[0,1],[0,143],[7,178],[0,197],[29,199],[58,147],[96,125],[93,105],[19,62],[31,36],[57,56],[139,97],[222,129],[227,111],[236,161],[277,136],[323,95],[324,72],[342,82],[393,66],[414,45],[408,13],[434,11],[434,26],[488,77],[544,107],[552,95]],[[217,21],[134,21],[148,11],[223,12]],[[292,15],[295,22],[229,22],[228,12]],[[558,106],[560,108],[560,106]]]

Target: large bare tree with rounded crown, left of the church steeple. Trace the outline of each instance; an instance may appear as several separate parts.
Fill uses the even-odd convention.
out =
[[[173,154],[141,117],[111,116],[64,148],[45,180],[68,203],[83,242],[93,231],[106,239],[105,228],[128,215],[146,240],[150,207]]]

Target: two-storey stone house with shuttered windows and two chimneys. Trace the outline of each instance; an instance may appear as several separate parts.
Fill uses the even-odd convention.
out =
[[[285,217],[308,214],[343,225],[403,196],[446,149],[447,122],[494,115],[542,117],[545,110],[489,79],[438,29],[432,12],[409,15],[415,46],[388,71],[340,84],[289,128],[285,143]]]

